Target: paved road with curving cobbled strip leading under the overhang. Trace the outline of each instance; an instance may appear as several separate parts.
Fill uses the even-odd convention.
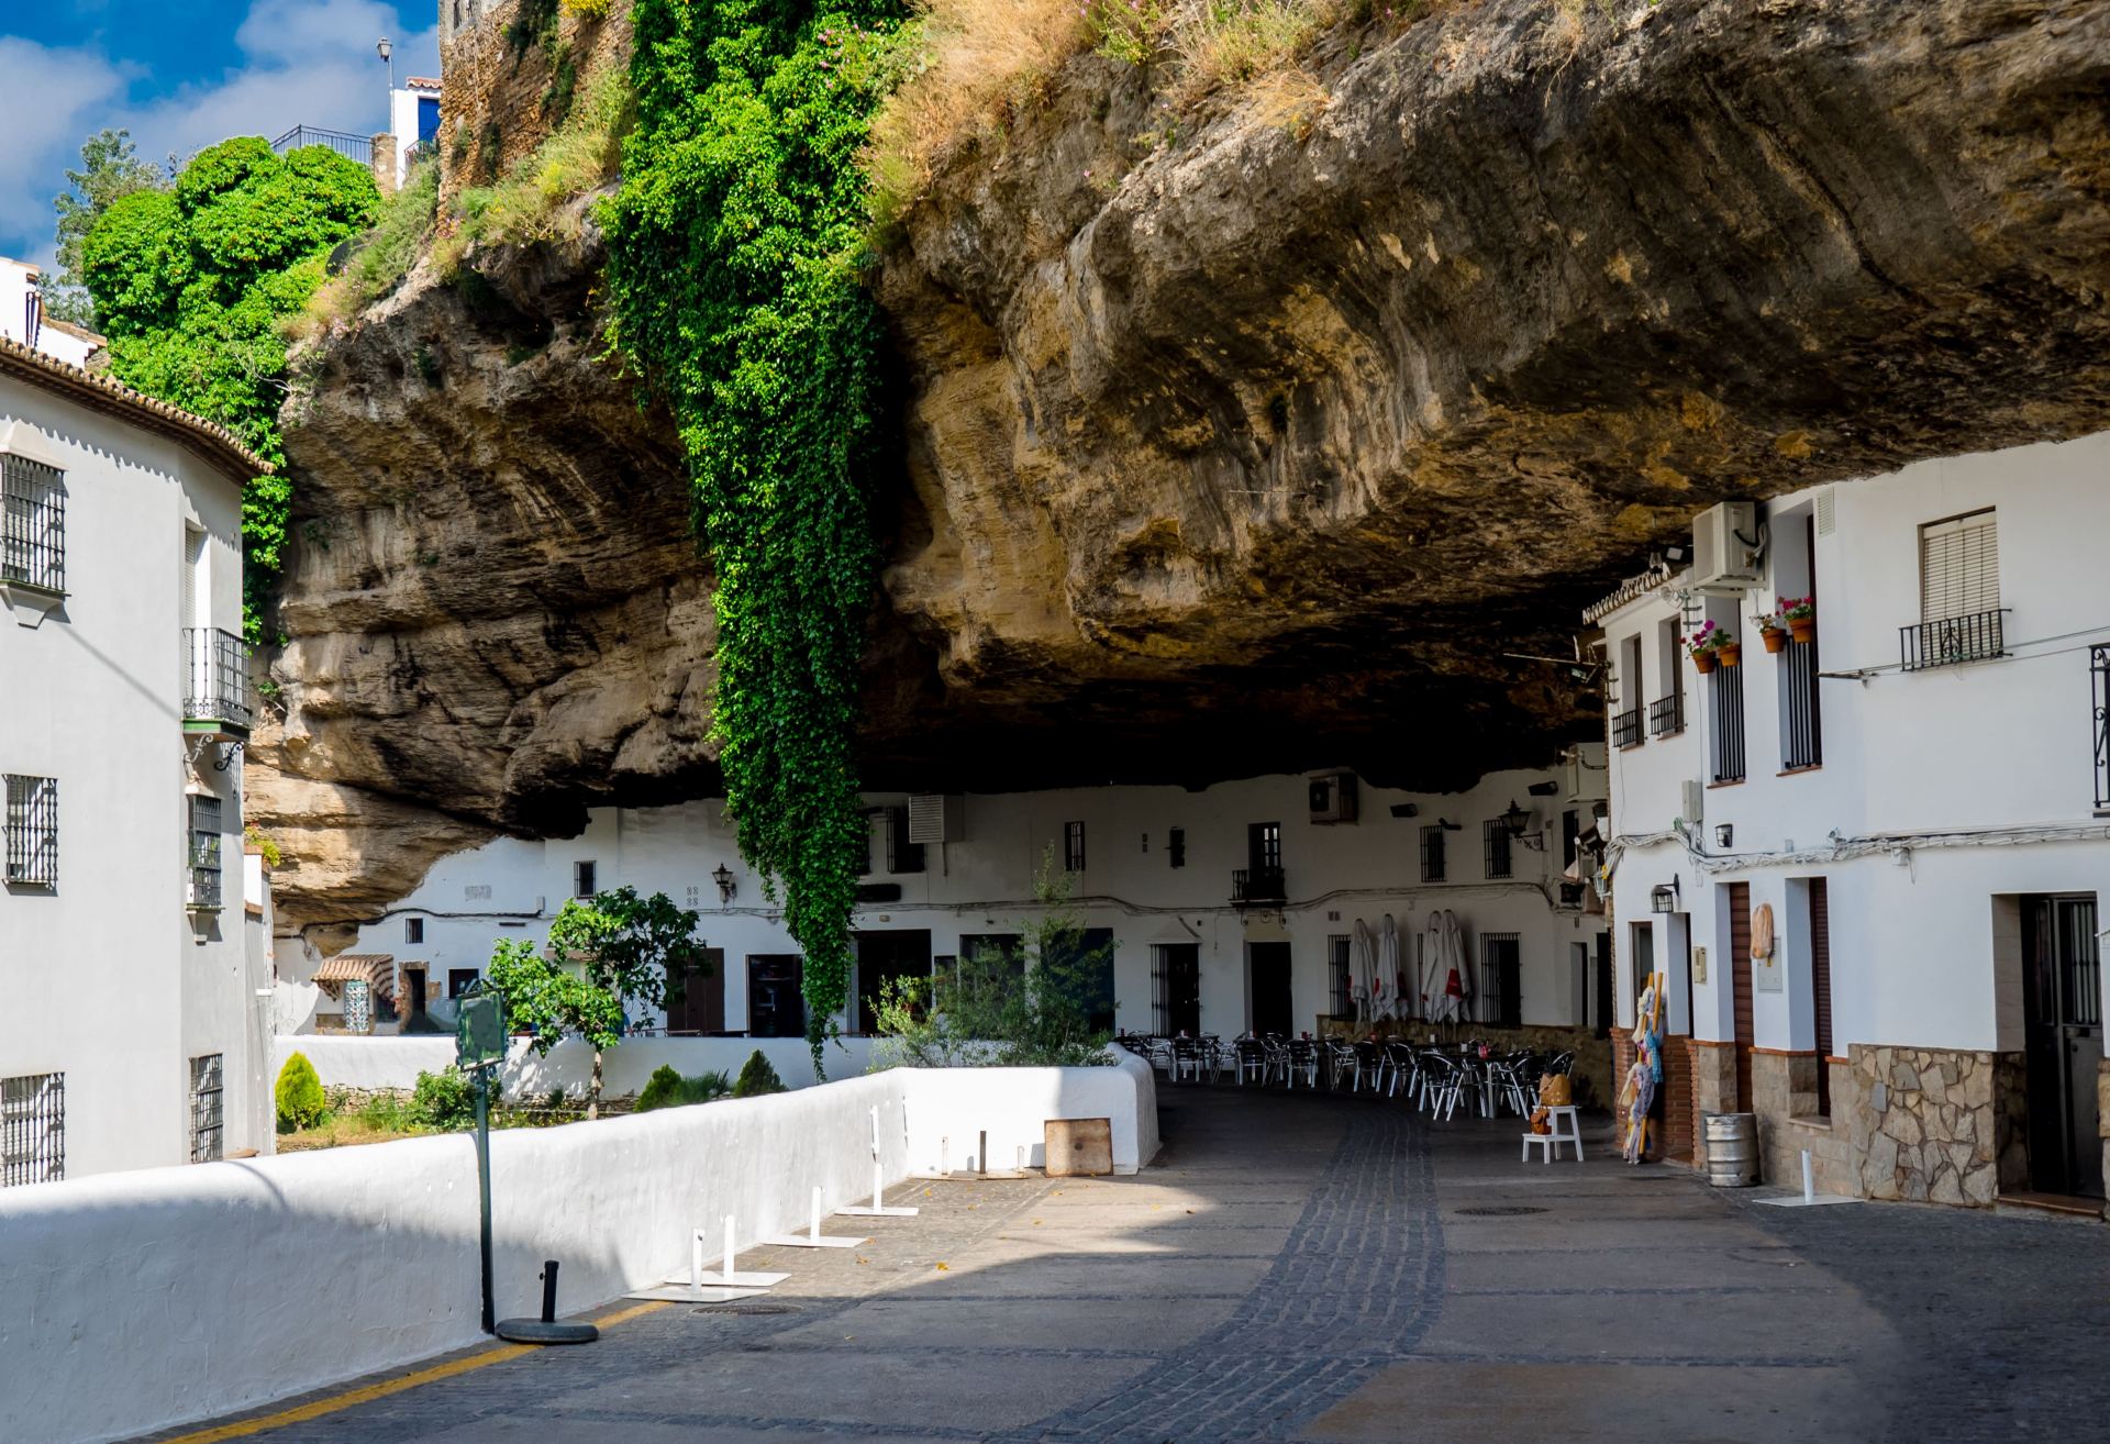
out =
[[[783,1311],[665,1307],[260,1438],[2106,1433],[2104,1229],[1758,1208],[1608,1148],[1521,1165],[1515,1121],[1367,1100],[1186,1087],[1163,1125],[1137,1178],[903,1186],[924,1212],[869,1220],[865,1248],[743,1254],[791,1271],[766,1300]]]

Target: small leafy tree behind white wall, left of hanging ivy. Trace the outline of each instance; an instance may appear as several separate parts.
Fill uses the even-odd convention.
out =
[[[542,956],[525,939],[498,939],[490,982],[504,994],[513,1022],[534,1032],[538,1053],[570,1032],[593,1045],[587,1117],[597,1119],[601,1053],[622,1037],[622,1005],[663,1009],[682,999],[688,977],[709,973],[696,914],[675,908],[667,893],[639,897],[633,887],[574,897],[549,927],[549,952]]]

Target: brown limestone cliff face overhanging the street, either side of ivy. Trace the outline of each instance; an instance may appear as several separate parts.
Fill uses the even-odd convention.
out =
[[[2104,424],[2110,4],[1483,0],[1175,133],[1146,80],[1072,61],[878,272],[874,785],[1545,760],[1595,703],[1504,652],[1566,654],[1701,507]],[[709,578],[595,264],[589,226],[418,274],[316,359],[283,825],[715,783]],[[340,842],[357,895],[281,872],[289,912],[399,895],[416,832]]]

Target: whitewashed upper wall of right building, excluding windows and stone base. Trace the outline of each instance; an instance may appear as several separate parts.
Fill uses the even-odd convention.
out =
[[[1775,965],[1756,969],[1753,1041],[1815,1047],[1804,885],[1823,876],[1836,1056],[1850,1043],[2019,1049],[2019,965],[1994,946],[1996,910],[2023,893],[2110,893],[2089,695],[2089,644],[2110,642],[2110,568],[2097,555],[2110,530],[2110,435],[1918,462],[1829,492],[1834,530],[1815,538],[1821,661],[1861,680],[1819,684],[1823,766],[1781,775],[1779,659],[1747,619],[1753,602],[1806,591],[1783,574],[1796,566],[1783,538],[1800,538],[1817,492],[1775,500],[1768,585],[1741,608],[1709,604],[1713,616],[1745,619],[1747,781],[1705,790],[1696,838],[1707,853],[1724,851],[1715,825],[1730,823],[1734,838],[1722,866],[1675,842],[1625,855],[1614,880],[1620,1015],[1631,1020],[1633,923],[1654,923],[1656,967],[1669,965],[1684,990],[1684,948],[1667,956],[1671,920],[1650,916],[1650,889],[1675,878],[1692,942],[1711,958],[1707,980],[1690,982],[1696,1034],[1734,1037],[1726,885],[1749,882],[1751,908],[1772,904],[1781,923]],[[2011,657],[1905,673],[1899,627],[1920,621],[1918,528],[1981,507],[1998,517]],[[1610,657],[1642,640],[1639,686],[1614,678],[1623,707],[1663,695],[1658,623],[1677,610],[1673,591],[1606,619]],[[1707,678],[1690,665],[1686,711],[1682,737],[1612,754],[1618,834],[1667,830],[1684,811],[1680,783],[1707,779]],[[1834,834],[1891,842],[1834,859]]]

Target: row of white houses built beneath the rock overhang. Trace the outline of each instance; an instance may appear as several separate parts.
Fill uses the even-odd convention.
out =
[[[1601,794],[1601,768],[1576,775],[1589,779],[1585,792]],[[1353,798],[1348,809],[1342,794]],[[1610,977],[1601,916],[1582,914],[1576,885],[1561,901],[1564,836],[1587,830],[1591,811],[1568,773],[1494,773],[1473,792],[1443,796],[1359,787],[1353,775],[1277,775],[1207,792],[931,798],[926,825],[952,840],[920,844],[909,836],[907,796],[865,800],[871,855],[855,920],[859,999],[890,973],[928,973],[937,958],[973,954],[977,939],[1015,946],[1019,920],[1042,912],[1032,880],[1053,847],[1057,868],[1076,874],[1087,944],[1114,946],[1104,994],[1116,1028],[1226,1039],[1317,1032],[1323,1020],[1355,1011],[1344,977],[1355,923],[1378,931],[1393,916],[1401,963],[1414,973],[1409,992],[1418,992],[1431,910],[1452,910],[1464,929],[1475,965],[1471,1015],[1485,1024],[1473,1032],[1599,1022],[1591,1013],[1597,990],[1585,984],[1599,954]],[[1348,811],[1350,819],[1312,821],[1315,806],[1319,817]],[[1517,838],[1500,821],[1513,806]],[[724,897],[720,870],[730,885]],[[369,999],[390,994],[380,1007],[401,1026],[420,999],[468,986],[494,939],[542,939],[568,897],[616,887],[667,893],[703,914],[720,969],[667,1020],[675,1030],[804,1032],[798,946],[741,861],[722,802],[597,809],[578,838],[502,838],[447,857],[338,958],[281,939],[279,1026],[344,1028],[346,994],[361,982]],[[869,1030],[869,1007],[840,1026]]]

